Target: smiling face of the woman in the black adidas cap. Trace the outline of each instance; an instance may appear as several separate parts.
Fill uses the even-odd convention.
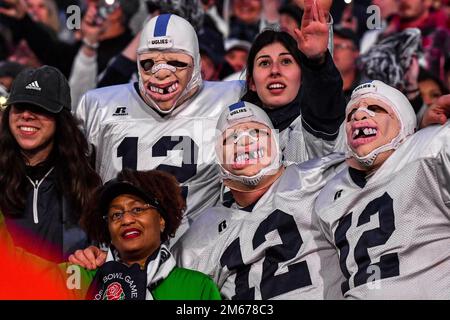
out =
[[[33,105],[13,105],[9,112],[9,129],[28,164],[47,159],[53,149],[56,130],[53,114]]]

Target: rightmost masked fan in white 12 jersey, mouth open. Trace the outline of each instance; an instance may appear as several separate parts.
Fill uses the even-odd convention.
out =
[[[353,91],[347,167],[314,209],[339,250],[345,298],[450,298],[450,124],[415,127],[397,89],[372,81]]]

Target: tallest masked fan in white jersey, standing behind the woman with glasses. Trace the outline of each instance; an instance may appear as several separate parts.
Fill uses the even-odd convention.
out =
[[[88,92],[76,115],[95,149],[103,181],[125,167],[176,176],[187,197],[178,236],[218,200],[214,128],[223,108],[238,101],[243,85],[202,81],[197,35],[173,14],[145,24],[137,56],[138,83]]]

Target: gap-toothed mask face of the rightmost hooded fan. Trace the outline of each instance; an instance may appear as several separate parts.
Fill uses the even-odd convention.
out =
[[[361,108],[373,112],[373,116]],[[362,98],[347,108],[347,143],[360,157],[392,141],[400,126],[394,110],[379,99]]]

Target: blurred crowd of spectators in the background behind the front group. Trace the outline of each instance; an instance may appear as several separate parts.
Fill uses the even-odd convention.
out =
[[[303,1],[117,0],[120,9],[103,5],[101,11],[105,12],[105,18],[97,12],[97,2],[101,1],[27,0],[23,1],[22,11],[2,14],[0,84],[3,96],[22,68],[43,64],[57,67],[70,80],[74,105],[87,90],[134,81],[137,69],[133,49],[139,28],[145,19],[163,12],[176,13],[193,23],[199,36],[204,80],[243,78],[242,71],[256,35],[265,28],[293,33],[300,25]],[[429,105],[439,94],[448,92],[448,1],[323,3],[330,6],[334,29],[333,57],[343,77],[347,96],[362,81],[366,67],[361,58],[372,59],[370,49],[374,45],[406,28],[421,31],[420,46],[404,45],[411,48],[411,54],[421,58],[419,73],[413,78],[420,83],[425,103]],[[72,14],[67,11],[70,5],[81,8],[79,29],[68,28],[71,28],[67,23]],[[370,5],[378,6],[379,11],[367,11]],[[380,13],[380,19],[371,17],[374,12]],[[389,65],[401,65],[401,71],[405,73],[409,66],[401,63],[405,59],[398,52],[400,50],[394,56],[385,54],[378,59],[388,61]]]

